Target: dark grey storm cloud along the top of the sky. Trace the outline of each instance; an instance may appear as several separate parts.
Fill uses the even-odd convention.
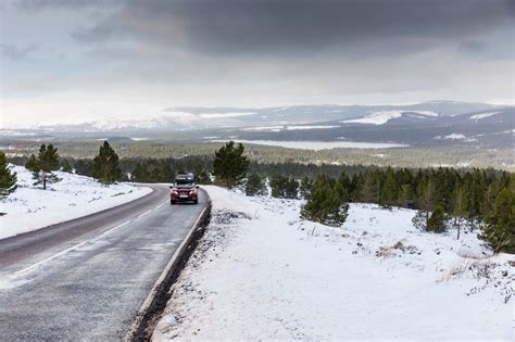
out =
[[[427,49],[513,28],[511,0],[129,1],[81,41],[141,39],[211,53]],[[373,45],[373,46],[370,46]]]

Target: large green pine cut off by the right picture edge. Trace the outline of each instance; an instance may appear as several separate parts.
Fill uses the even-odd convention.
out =
[[[515,253],[515,192],[502,190],[479,237],[495,252]]]

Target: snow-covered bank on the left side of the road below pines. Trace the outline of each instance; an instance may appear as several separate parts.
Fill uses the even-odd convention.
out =
[[[92,178],[56,172],[62,180],[48,185],[47,190],[33,186],[32,174],[21,166],[17,189],[0,200],[0,239],[27,232],[49,225],[89,215],[136,200],[149,188],[117,183],[102,186]]]

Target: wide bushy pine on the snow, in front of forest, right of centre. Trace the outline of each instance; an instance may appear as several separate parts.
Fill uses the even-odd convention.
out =
[[[349,204],[340,187],[334,179],[318,176],[302,206],[301,217],[331,227],[341,226],[347,219]]]

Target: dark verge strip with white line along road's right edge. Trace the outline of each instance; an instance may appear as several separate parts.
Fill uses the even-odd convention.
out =
[[[211,220],[211,199],[208,191],[202,189],[202,192],[208,198],[208,204],[145,299],[135,320],[123,339],[124,341],[150,341],[153,328],[161,318],[161,314],[172,295],[169,289],[180,276]]]

